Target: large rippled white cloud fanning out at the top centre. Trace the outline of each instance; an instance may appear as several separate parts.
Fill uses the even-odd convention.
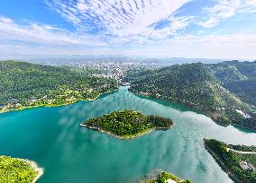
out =
[[[78,26],[79,30],[117,37],[167,36],[178,30],[174,28],[154,30],[151,25],[168,20],[173,13],[190,0],[48,0],[47,4],[66,20]],[[185,19],[184,19],[185,20]],[[184,21],[183,20],[183,21]],[[185,23],[183,22],[183,25]],[[175,27],[176,26],[176,27]],[[180,29],[184,28],[181,26]]]

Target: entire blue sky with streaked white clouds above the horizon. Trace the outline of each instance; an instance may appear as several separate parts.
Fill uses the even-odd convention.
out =
[[[1,0],[0,57],[256,59],[256,0]]]

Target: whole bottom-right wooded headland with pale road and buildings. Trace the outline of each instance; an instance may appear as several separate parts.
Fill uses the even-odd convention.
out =
[[[236,182],[256,182],[256,147],[204,139],[208,153]]]

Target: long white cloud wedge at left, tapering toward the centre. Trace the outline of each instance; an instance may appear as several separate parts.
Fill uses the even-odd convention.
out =
[[[23,41],[35,44],[81,44],[86,46],[103,46],[99,38],[78,33],[70,33],[47,24],[29,22],[18,24],[12,19],[0,18],[0,40],[1,41]]]

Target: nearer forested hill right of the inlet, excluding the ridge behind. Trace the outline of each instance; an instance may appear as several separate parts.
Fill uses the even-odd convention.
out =
[[[223,125],[233,123],[256,130],[255,109],[224,88],[213,71],[201,63],[172,65],[141,73],[131,71],[125,80],[130,81],[131,92],[182,103]]]

